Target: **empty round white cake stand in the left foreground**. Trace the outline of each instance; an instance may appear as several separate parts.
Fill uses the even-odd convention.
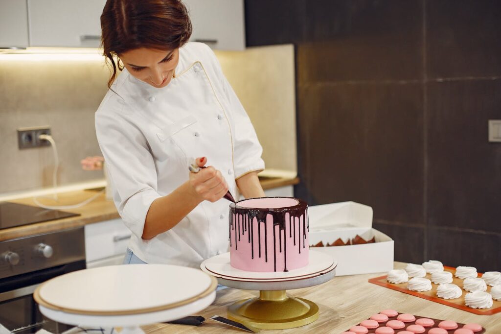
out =
[[[198,269],[131,264],[84,269],[55,277],[35,290],[42,314],[85,327],[123,327],[171,321],[196,313],[215,298],[217,281]]]

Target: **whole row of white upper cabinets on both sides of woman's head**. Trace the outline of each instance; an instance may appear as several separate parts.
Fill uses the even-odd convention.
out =
[[[190,41],[244,50],[243,0],[184,0]],[[0,47],[99,47],[106,0],[0,0]]]

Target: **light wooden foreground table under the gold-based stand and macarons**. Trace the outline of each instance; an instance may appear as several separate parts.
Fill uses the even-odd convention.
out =
[[[406,263],[395,262],[395,269],[403,269],[405,266]],[[393,308],[400,312],[436,319],[454,320],[462,323],[476,322],[484,326],[487,333],[501,333],[501,313],[476,315],[368,282],[369,278],[384,274],[340,276],[322,285],[288,290],[290,295],[303,297],[317,303],[320,307],[319,319],[303,327],[262,332],[341,333],[382,309]],[[259,291],[231,288],[218,291],[214,303],[196,315],[202,315],[206,319],[214,314],[226,316],[226,307],[228,305],[236,300],[255,297],[258,294]],[[159,323],[143,326],[142,328],[147,333],[221,333],[223,331],[243,333],[241,330],[211,320],[205,321],[198,327]]]

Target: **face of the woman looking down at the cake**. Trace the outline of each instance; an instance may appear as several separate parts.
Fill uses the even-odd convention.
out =
[[[119,57],[132,76],[162,88],[172,79],[179,62],[179,49],[160,51],[140,48],[124,52]]]

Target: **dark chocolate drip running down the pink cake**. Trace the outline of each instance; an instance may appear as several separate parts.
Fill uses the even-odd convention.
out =
[[[246,200],[244,200],[246,201]],[[253,209],[239,207],[238,202],[230,204],[230,218],[229,218],[229,236],[230,236],[230,246],[231,244],[231,231],[235,230],[235,250],[237,249],[237,243],[240,241],[240,226],[235,228],[234,224],[239,224],[240,219],[242,222],[242,235],[245,232],[248,233],[248,243],[251,247],[251,257],[254,259],[254,218],[256,218],[258,223],[258,257],[262,257],[261,252],[261,224],[264,224],[265,229],[265,262],[268,262],[268,233],[266,228],[266,218],[268,215],[273,217],[273,261],[274,270],[277,271],[277,236],[275,231],[275,226],[279,227],[279,252],[282,253],[282,242],[284,244],[284,271],[287,270],[287,214],[289,214],[289,237],[293,237],[294,245],[296,246],[296,237],[298,238],[298,250],[301,253],[301,248],[306,247],[306,230],[310,230],[308,222],[308,205],[306,202],[298,200],[298,204],[292,207],[276,208],[276,209]],[[303,217],[303,238],[301,238],[301,217]],[[296,224],[297,218],[297,224]],[[236,221],[235,221],[236,220]],[[244,223],[246,222],[246,224]],[[298,225],[296,233],[296,225]],[[238,231],[237,231],[238,230]],[[284,238],[282,239],[282,231],[284,231]],[[294,234],[294,236],[293,236]],[[238,237],[237,237],[238,235]],[[301,247],[301,239],[303,239],[303,247]],[[244,239],[245,240],[245,239]],[[282,241],[283,240],[283,241]]]

